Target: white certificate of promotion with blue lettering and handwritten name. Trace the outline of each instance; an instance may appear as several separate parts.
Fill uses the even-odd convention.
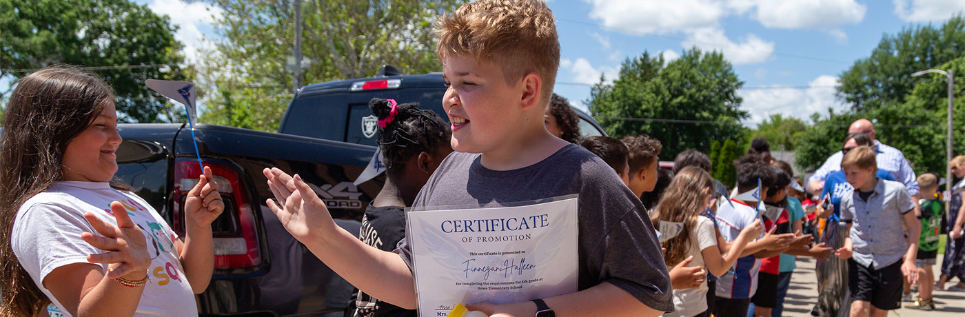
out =
[[[409,211],[419,316],[455,304],[521,303],[577,290],[577,198]]]

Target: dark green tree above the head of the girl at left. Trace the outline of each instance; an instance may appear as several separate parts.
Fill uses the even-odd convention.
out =
[[[190,80],[176,31],[167,16],[129,0],[0,0],[0,77],[56,64],[100,67],[90,71],[114,88],[123,121],[181,121],[183,108],[144,86]]]

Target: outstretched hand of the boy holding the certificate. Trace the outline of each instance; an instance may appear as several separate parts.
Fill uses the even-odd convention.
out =
[[[264,169],[263,172],[268,178],[268,187],[278,200],[276,203],[267,199],[268,208],[295,239],[302,243],[315,241],[320,234],[335,230],[335,221],[325,202],[298,174],[291,177],[277,168]]]

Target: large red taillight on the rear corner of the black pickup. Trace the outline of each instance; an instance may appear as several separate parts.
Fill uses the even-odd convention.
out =
[[[225,202],[225,211],[211,224],[214,243],[214,269],[250,268],[262,263],[256,233],[255,215],[241,187],[238,172],[234,169],[205,163],[211,168],[212,178],[218,184],[218,193]],[[201,179],[198,162],[175,164],[174,226],[184,234],[184,199],[188,191]]]

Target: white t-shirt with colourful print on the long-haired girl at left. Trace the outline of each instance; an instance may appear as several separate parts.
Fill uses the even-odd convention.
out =
[[[50,291],[43,278],[56,268],[90,263],[88,254],[102,253],[80,238],[84,231],[100,235],[84,219],[91,212],[105,222],[117,225],[111,213],[112,201],[120,201],[127,215],[144,231],[148,252],[152,256],[148,275],[151,282],[144,287],[134,316],[198,316],[191,285],[184,277],[175,241],[178,235],[142,198],[110,187],[108,183],[86,181],[56,182],[49,189],[28,199],[16,213],[11,245],[20,265],[34,279],[43,294],[63,316],[69,316]],[[95,263],[106,273],[107,265]]]

